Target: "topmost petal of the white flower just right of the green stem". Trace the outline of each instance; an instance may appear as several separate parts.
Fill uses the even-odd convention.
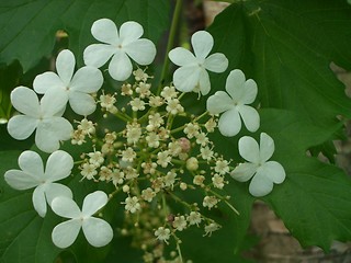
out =
[[[197,31],[191,37],[191,44],[196,58],[205,58],[213,47],[213,37],[206,31]]]

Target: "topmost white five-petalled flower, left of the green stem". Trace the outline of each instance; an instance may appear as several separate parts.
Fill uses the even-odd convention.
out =
[[[154,43],[140,38],[143,26],[134,21],[121,25],[120,32],[112,20],[100,19],[92,24],[91,34],[104,44],[92,44],[84,50],[86,65],[100,68],[111,57],[109,72],[118,81],[124,81],[132,75],[131,58],[138,65],[149,65],[156,56]]]

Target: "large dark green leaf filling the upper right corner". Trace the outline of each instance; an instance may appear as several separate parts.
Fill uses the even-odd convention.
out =
[[[215,49],[257,81],[262,107],[287,108],[328,126],[351,117],[351,101],[329,69],[350,68],[351,7],[344,0],[240,1],[208,31]],[[225,78],[215,79],[222,90]]]

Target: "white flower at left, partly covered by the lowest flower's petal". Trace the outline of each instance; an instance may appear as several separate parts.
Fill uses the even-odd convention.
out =
[[[4,180],[11,187],[29,190],[35,187],[32,196],[33,206],[41,217],[46,214],[46,203],[52,204],[57,196],[72,197],[66,185],[55,183],[70,175],[73,159],[66,151],[54,151],[47,159],[45,171],[41,156],[35,151],[24,151],[19,157],[21,170],[9,170]]]

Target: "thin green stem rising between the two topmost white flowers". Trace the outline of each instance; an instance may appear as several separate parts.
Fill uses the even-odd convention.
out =
[[[160,84],[159,84],[158,90],[157,90],[157,95],[159,95],[161,93],[162,83],[163,83],[163,81],[166,79],[166,75],[168,72],[168,68],[169,68],[168,53],[173,47],[174,36],[176,36],[176,33],[177,33],[178,21],[179,21],[179,16],[180,16],[180,13],[181,13],[181,10],[182,10],[182,2],[183,2],[183,0],[177,0],[177,2],[176,2],[174,13],[173,13],[173,18],[172,18],[171,28],[170,28],[170,32],[169,32],[168,43],[167,43],[167,48],[166,48],[166,54],[165,54],[163,67],[162,67],[162,72],[161,72],[161,78],[160,78]]]

